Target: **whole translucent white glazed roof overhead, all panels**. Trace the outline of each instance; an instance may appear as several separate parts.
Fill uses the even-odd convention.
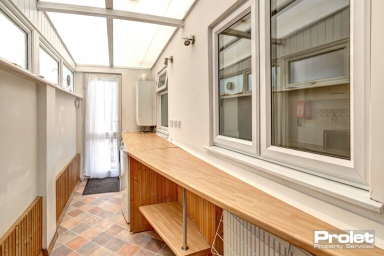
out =
[[[62,3],[63,9],[66,7],[64,4],[105,8],[105,0],[49,0],[47,2],[58,3],[56,6]],[[113,0],[112,5],[115,10],[181,20],[193,2],[194,0]],[[95,9],[95,11],[98,10],[100,9]],[[60,13],[60,9],[46,9],[46,11],[77,64],[110,64],[107,38],[109,30],[105,16],[89,16],[93,13],[83,12],[81,14],[85,15]],[[67,11],[62,10],[62,12]],[[113,18],[113,29],[110,29],[113,31],[111,33],[113,34],[113,66],[152,67],[175,29],[176,27],[171,25]]]

